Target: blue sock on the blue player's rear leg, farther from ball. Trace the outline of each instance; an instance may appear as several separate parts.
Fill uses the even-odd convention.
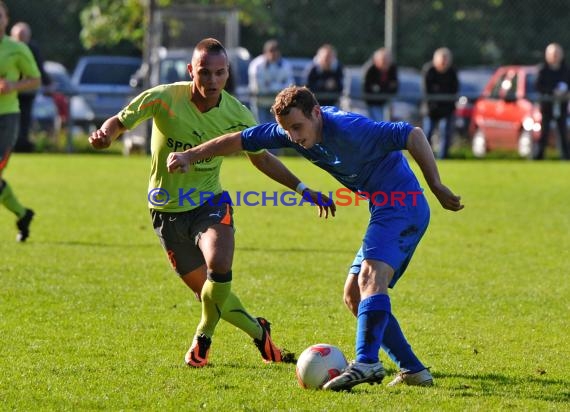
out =
[[[390,314],[388,325],[384,331],[382,349],[386,351],[402,372],[416,373],[426,368],[412,351],[400,324],[392,314]]]

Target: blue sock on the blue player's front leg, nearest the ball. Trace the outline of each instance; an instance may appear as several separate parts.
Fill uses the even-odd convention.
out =
[[[378,351],[382,344],[384,329],[390,316],[390,297],[372,295],[358,305],[356,326],[356,361],[378,362]]]

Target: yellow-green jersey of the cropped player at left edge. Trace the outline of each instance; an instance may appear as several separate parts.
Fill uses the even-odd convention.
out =
[[[4,35],[0,39],[0,79],[17,82],[21,77],[39,78],[38,65],[28,46]],[[15,90],[0,94],[0,114],[8,113],[20,113]]]

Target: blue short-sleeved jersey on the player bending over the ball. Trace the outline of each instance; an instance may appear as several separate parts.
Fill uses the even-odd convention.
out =
[[[294,148],[354,192],[420,191],[420,185],[401,153],[413,127],[408,123],[374,122],[335,107],[321,107],[322,141],[305,149],[289,140],[276,123],[242,131],[247,151]]]

